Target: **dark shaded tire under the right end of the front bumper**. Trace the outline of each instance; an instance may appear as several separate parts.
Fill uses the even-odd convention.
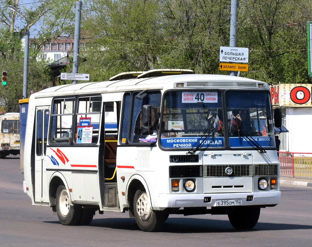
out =
[[[260,208],[238,207],[228,214],[235,229],[252,229],[258,222]]]

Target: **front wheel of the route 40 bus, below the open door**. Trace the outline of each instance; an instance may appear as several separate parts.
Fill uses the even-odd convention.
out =
[[[142,189],[134,194],[133,211],[138,227],[145,232],[159,231],[169,215],[164,211],[153,211],[148,202],[148,194]]]

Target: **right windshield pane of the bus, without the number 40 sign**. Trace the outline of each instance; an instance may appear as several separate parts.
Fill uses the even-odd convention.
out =
[[[225,93],[229,145],[274,147],[274,128],[267,92]]]

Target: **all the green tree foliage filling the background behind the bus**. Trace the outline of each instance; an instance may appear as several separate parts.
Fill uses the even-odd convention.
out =
[[[0,8],[0,66],[8,71],[1,87],[0,105],[16,111],[23,89],[25,30],[38,33],[29,51],[28,91],[37,92],[55,82],[53,71],[37,61],[40,48],[53,38],[73,37],[74,0],[13,4],[25,16],[14,32],[16,17]],[[240,0],[237,47],[249,48],[249,71],[240,76],[268,83],[310,83],[307,71],[307,25],[311,1]],[[228,74],[219,70],[219,47],[229,46],[231,0],[96,0],[83,1],[79,73],[91,81],[107,80],[125,71],[185,68],[196,73]],[[86,44],[84,48],[83,44]],[[62,72],[71,72],[70,64]],[[1,69],[0,69],[1,70]]]

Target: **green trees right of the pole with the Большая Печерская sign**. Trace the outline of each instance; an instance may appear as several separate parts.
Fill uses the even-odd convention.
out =
[[[268,83],[308,83],[306,22],[310,1],[240,1],[238,46],[249,47],[249,72]]]

